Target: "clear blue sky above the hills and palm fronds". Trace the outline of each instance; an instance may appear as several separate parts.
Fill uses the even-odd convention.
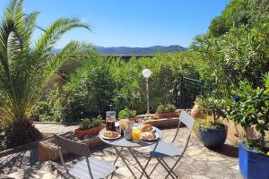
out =
[[[0,12],[7,2],[0,0]],[[188,47],[228,3],[229,0],[25,0],[24,9],[26,13],[39,11],[38,24],[42,27],[57,18],[73,16],[91,24],[92,32],[70,31],[57,47],[71,39],[104,47]]]

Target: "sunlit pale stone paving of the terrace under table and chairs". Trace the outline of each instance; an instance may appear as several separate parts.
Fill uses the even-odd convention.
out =
[[[163,130],[164,138],[163,141],[171,141],[176,129]],[[183,146],[187,137],[187,128],[180,129],[178,134],[178,140],[176,144],[178,147]],[[146,154],[146,149],[139,149],[139,152]],[[134,174],[140,176],[139,171],[136,169],[137,165],[134,164],[134,158],[124,151],[126,158],[129,160]],[[238,164],[238,149],[228,142],[225,143],[222,149],[210,150],[204,148],[203,144],[198,140],[195,134],[192,135],[190,144],[187,148],[184,158],[181,159],[179,166],[175,169],[175,173],[178,178],[183,179],[241,179],[239,174],[239,164]],[[108,162],[113,162],[116,158],[114,149],[111,147],[104,147],[100,149],[92,150],[92,155],[95,158],[100,158]],[[146,159],[143,155],[137,154],[137,157],[144,165]],[[66,159],[66,163],[72,166],[75,161],[82,158],[76,156],[69,156]],[[174,159],[167,158],[169,164],[172,165]],[[0,159],[0,162],[1,159]],[[157,160],[152,159],[151,165],[148,167],[147,171],[151,171]],[[132,165],[131,165],[132,163]],[[128,171],[126,166],[121,160],[117,161],[116,164],[119,168],[116,170],[114,179],[129,179],[134,178]],[[152,173],[151,178],[154,179],[164,179],[166,175],[165,170],[159,165],[157,169]],[[24,168],[24,170],[19,170],[13,174],[8,175],[10,178],[70,178],[70,175],[65,174],[65,170],[59,163],[37,163],[35,166]],[[27,177],[25,177],[27,176]],[[1,177],[1,175],[0,175]]]

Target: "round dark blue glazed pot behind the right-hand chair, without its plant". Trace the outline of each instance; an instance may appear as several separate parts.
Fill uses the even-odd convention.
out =
[[[207,148],[219,148],[226,141],[227,131],[225,125],[218,129],[206,129],[199,127],[199,138]]]

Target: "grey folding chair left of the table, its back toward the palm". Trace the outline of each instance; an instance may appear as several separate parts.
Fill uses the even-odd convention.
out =
[[[116,166],[108,164],[105,161],[92,158],[88,145],[70,141],[58,135],[54,135],[54,138],[58,146],[62,164],[65,167],[67,174],[81,179],[100,179],[108,177],[108,175],[112,174],[116,170]],[[65,149],[76,155],[83,156],[85,159],[77,162],[74,166],[68,169],[65,166],[61,149]]]

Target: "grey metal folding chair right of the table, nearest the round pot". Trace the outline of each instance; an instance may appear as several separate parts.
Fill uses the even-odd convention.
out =
[[[157,149],[155,149],[155,151],[153,151],[155,145],[152,145],[149,147],[150,153],[152,155],[152,158],[157,158],[158,163],[153,167],[152,172],[156,169],[156,167],[161,164],[161,166],[163,166],[163,168],[168,172],[168,175],[166,175],[165,178],[168,178],[168,176],[170,175],[172,178],[177,178],[177,175],[174,173],[174,168],[178,165],[178,162],[180,161],[180,159],[183,157],[187,146],[188,146],[188,142],[190,140],[192,131],[193,131],[193,127],[195,124],[195,120],[187,114],[187,112],[185,111],[181,111],[180,115],[179,115],[179,122],[178,122],[178,130],[175,133],[175,136],[172,140],[172,142],[170,143],[166,143],[166,142],[159,142]],[[174,141],[177,139],[178,137],[178,131],[180,128],[180,124],[185,124],[188,128],[188,136],[187,136],[187,141],[185,143],[185,147],[183,149],[179,149],[175,144]],[[166,162],[164,158],[178,158],[175,162],[175,164],[173,166],[169,166],[169,164],[171,164],[171,162]],[[150,175],[152,174],[152,172],[150,173]]]

